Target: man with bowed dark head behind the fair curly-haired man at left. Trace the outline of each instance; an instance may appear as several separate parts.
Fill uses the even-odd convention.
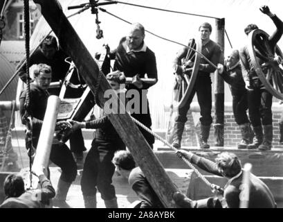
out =
[[[35,50],[32,56],[30,56],[29,65],[37,65],[43,63],[51,66],[52,69],[52,81],[64,81],[67,71],[69,70],[69,63],[65,62],[68,56],[60,49],[57,44],[57,40],[53,35],[48,35],[45,40],[40,44],[39,48]],[[26,83],[26,65],[24,65],[19,71],[19,77]],[[48,89],[49,94],[59,96],[61,88]],[[82,95],[82,92],[78,89],[68,90],[66,93],[67,98],[77,98]],[[75,92],[75,93],[74,93]],[[84,138],[82,137],[82,130],[77,130],[70,137],[70,148],[75,154],[77,160],[82,160],[82,152],[86,151],[84,147]]]

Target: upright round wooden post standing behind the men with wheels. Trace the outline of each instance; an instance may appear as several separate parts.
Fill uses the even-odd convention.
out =
[[[224,64],[224,34],[225,34],[225,19],[216,19],[216,42],[221,46],[222,53],[219,63]],[[215,146],[224,146],[224,82],[223,78],[214,73],[214,138],[216,139]],[[214,140],[215,140],[214,139]]]

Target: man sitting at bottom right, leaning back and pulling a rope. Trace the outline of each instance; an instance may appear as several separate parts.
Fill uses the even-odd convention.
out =
[[[228,207],[239,208],[241,185],[243,180],[243,170],[241,162],[234,153],[223,152],[212,162],[204,157],[194,155],[192,152],[179,150],[176,151],[179,157],[185,157],[197,167],[213,173],[217,176],[223,176],[228,179],[224,187],[223,199],[207,198],[204,200],[190,200],[184,194],[176,192],[173,198],[180,207],[190,208],[212,208],[212,207]],[[259,180],[257,176],[250,175],[250,195],[248,208],[275,208],[276,203],[270,189]]]

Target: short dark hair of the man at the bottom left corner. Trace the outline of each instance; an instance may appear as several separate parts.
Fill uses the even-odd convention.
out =
[[[24,194],[24,179],[17,174],[9,174],[4,180],[5,195],[10,197],[19,197]]]

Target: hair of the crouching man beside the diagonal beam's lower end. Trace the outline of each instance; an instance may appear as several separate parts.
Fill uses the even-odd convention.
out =
[[[134,157],[129,151],[116,151],[112,162],[114,165],[127,171],[130,171],[136,167]]]

